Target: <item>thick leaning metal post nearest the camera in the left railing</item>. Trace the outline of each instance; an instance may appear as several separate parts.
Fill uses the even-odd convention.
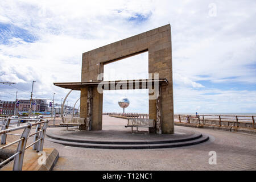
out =
[[[19,152],[19,155],[16,155],[14,158],[13,171],[22,171],[23,158],[25,153],[25,148],[27,144],[28,134],[30,134],[31,123],[28,123],[28,127],[26,127],[20,138],[23,140],[19,141],[16,152]]]

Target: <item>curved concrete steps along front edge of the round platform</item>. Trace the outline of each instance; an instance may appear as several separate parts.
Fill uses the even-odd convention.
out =
[[[146,149],[146,148],[171,148],[171,147],[183,147],[191,146],[206,142],[209,139],[206,135],[200,135],[197,139],[186,140],[183,142],[171,142],[171,143],[156,143],[156,144],[103,144],[103,143],[82,143],[82,142],[69,142],[59,139],[47,138],[47,140],[65,146],[72,147],[84,147],[84,148],[108,148],[108,149]]]

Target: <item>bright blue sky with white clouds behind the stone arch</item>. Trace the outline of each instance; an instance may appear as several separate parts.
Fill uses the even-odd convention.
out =
[[[256,113],[256,2],[1,1],[0,100],[56,102],[81,80],[83,52],[171,24],[175,113]],[[104,78],[146,78],[147,52],[105,66]],[[134,67],[134,63],[137,65]],[[73,91],[69,104],[80,92]],[[147,113],[147,90],[104,92],[104,111]],[[79,106],[79,104],[77,104]]]

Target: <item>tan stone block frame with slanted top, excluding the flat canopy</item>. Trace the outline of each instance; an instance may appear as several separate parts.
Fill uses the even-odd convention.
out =
[[[148,73],[159,73],[159,78],[167,78],[169,84],[161,88],[162,133],[174,133],[174,100],[172,84],[171,26],[159,28],[131,36],[130,38],[82,53],[81,82],[98,81],[98,74],[104,72],[104,64],[148,51]],[[86,118],[86,88],[81,89],[80,117]],[[93,88],[92,130],[102,129],[103,94]],[[149,118],[156,120],[156,100],[149,100]],[[151,133],[155,133],[151,130]]]

